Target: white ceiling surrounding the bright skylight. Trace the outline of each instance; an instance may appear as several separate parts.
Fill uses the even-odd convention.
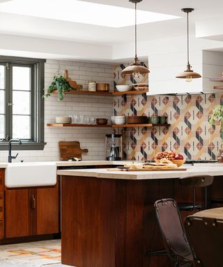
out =
[[[42,40],[42,43],[47,42],[47,40],[55,40],[55,42],[56,40],[60,40],[63,42],[67,41],[70,44],[72,42],[85,42],[89,44],[106,44],[109,46],[114,46],[116,44],[130,44],[134,42],[134,26],[111,28],[106,26],[68,22],[59,19],[3,13],[1,12],[1,2],[5,1],[12,1],[13,3],[13,1],[20,2],[21,0],[0,0],[0,35],[20,36],[21,38],[39,38],[39,40]],[[38,0],[29,1],[38,2]],[[82,1],[103,3],[112,6],[134,9],[134,4],[130,3],[128,0]],[[52,5],[53,3],[54,1],[52,0]],[[61,5],[63,5],[63,1],[61,1]],[[43,6],[43,10],[44,8],[45,7]],[[69,9],[69,6],[67,8]],[[219,27],[220,29],[218,29],[218,31],[211,34],[211,32],[213,31],[211,29],[211,25],[214,25],[213,22],[216,20],[216,18],[220,19],[218,20],[218,22],[216,21],[216,23],[219,23],[219,21],[221,21],[222,19],[222,0],[143,0],[138,4],[139,10],[164,13],[167,15],[176,15],[181,18],[171,19],[163,22],[140,24],[138,26],[138,41],[145,42],[164,38],[176,38],[178,36],[185,36],[186,14],[180,10],[181,8],[194,8],[194,12],[190,14],[190,33],[192,33],[192,35],[195,34],[195,24],[196,26],[197,24],[199,24],[199,27],[197,27],[196,29],[199,29],[202,34],[197,33],[197,37],[223,41],[223,29],[221,29],[221,27]],[[114,19],[116,19],[116,14],[114,14]],[[132,20],[134,21],[134,17],[132,17]],[[206,22],[206,24],[202,24],[203,22]],[[205,32],[207,24],[210,28],[208,29],[208,34],[206,34]],[[2,47],[0,42],[0,49],[6,48],[7,45],[5,44],[5,47]],[[66,55],[66,51],[64,51],[63,55]]]

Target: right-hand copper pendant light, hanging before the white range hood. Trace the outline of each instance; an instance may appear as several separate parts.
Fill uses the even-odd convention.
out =
[[[181,72],[176,76],[176,78],[186,79],[187,82],[192,81],[192,79],[201,78],[201,75],[197,72],[194,72],[191,69],[191,65],[189,62],[189,16],[188,13],[194,11],[194,8],[183,8],[181,9],[183,12],[187,13],[187,70]]]

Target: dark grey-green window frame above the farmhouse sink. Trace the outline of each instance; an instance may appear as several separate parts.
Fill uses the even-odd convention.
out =
[[[22,139],[22,145],[13,144],[13,149],[17,150],[43,150],[46,143],[44,137],[44,86],[45,86],[45,59],[40,58],[20,58],[14,56],[0,56],[0,64],[6,66],[6,104],[8,105],[9,96],[13,94],[11,84],[13,66],[31,67],[31,140]],[[6,106],[6,134],[12,133],[13,125],[9,122],[12,116],[12,108]],[[5,126],[5,127],[6,127]],[[9,136],[9,139],[11,136]],[[7,139],[7,138],[6,138]],[[0,140],[0,150],[8,150],[8,140]]]

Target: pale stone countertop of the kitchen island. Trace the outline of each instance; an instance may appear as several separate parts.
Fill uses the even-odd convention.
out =
[[[82,169],[82,170],[58,170],[58,175],[97,177],[108,179],[172,179],[193,175],[223,175],[223,164],[221,163],[197,163],[195,165],[183,165],[187,170],[182,171],[142,171],[125,172],[111,171],[107,169]]]

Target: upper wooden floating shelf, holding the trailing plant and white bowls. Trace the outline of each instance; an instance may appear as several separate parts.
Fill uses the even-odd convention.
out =
[[[127,92],[106,92],[106,91],[89,91],[89,90],[70,90],[66,92],[66,95],[107,95],[107,96],[112,96],[112,95],[141,95],[144,94],[145,92],[148,92],[148,90],[132,90],[132,91],[127,91]],[[52,92],[53,94],[57,93],[57,90],[54,90]]]

